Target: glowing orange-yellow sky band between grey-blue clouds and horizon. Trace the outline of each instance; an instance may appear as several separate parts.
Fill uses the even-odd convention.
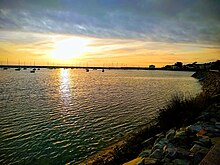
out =
[[[0,61],[26,65],[148,66],[209,62],[219,58],[216,45],[150,42],[137,39],[1,31]]]

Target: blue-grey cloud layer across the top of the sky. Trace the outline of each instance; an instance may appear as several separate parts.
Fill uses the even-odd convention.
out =
[[[2,0],[0,28],[219,43],[219,11],[218,0]]]

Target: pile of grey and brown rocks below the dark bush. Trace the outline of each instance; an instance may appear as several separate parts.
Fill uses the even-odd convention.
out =
[[[194,124],[171,128],[157,134],[156,139],[146,139],[145,149],[125,165],[199,164],[210,148],[220,142],[219,121],[220,104],[215,103],[202,112]]]

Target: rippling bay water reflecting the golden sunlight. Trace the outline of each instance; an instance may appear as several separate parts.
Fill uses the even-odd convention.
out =
[[[0,164],[76,164],[150,122],[192,72],[0,70]]]

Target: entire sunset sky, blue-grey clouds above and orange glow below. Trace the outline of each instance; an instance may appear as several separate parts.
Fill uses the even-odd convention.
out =
[[[220,58],[219,0],[0,0],[0,62],[157,67]]]

